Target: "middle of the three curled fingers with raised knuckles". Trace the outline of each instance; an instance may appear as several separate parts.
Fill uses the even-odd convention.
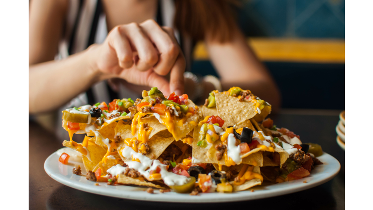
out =
[[[136,69],[140,71],[151,69],[158,62],[158,51],[154,48],[149,37],[137,23],[123,25],[121,31],[127,36],[138,53]]]

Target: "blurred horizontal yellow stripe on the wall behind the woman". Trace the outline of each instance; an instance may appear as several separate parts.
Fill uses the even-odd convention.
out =
[[[248,43],[262,61],[344,63],[344,39],[250,38]],[[203,42],[197,43],[193,56],[209,58]]]

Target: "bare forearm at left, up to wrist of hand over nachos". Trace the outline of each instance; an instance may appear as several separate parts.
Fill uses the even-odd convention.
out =
[[[61,61],[29,66],[29,113],[64,105],[103,78],[89,50]]]

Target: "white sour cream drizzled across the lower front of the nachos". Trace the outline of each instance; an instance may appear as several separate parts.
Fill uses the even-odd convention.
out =
[[[128,168],[135,169],[137,172],[139,172],[141,175],[143,175],[146,179],[149,181],[156,180],[153,178],[153,175],[150,175],[151,171],[155,171],[158,168],[160,168],[159,174],[161,175],[161,178],[168,186],[173,185],[183,185],[186,184],[188,181],[188,178],[184,175],[177,175],[172,172],[167,171],[167,165],[162,164],[159,160],[155,159],[152,160],[149,157],[146,157],[140,153],[136,153],[131,147],[126,146],[121,150],[122,156],[126,157],[127,159],[133,159],[138,161],[127,161],[125,162],[127,164]],[[124,172],[126,167],[123,167],[121,165],[116,165],[107,170],[111,175],[119,175],[122,172]],[[152,176],[152,177],[151,177]]]

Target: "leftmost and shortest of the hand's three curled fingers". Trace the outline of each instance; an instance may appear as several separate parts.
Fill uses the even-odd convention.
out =
[[[119,67],[122,69],[131,68],[134,64],[131,45],[123,33],[121,27],[115,27],[108,38],[109,46],[117,53]],[[118,73],[118,72],[117,72]]]

